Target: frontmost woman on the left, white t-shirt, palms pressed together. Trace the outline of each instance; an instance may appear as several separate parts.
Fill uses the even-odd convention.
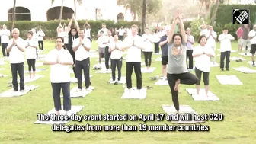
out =
[[[73,59],[68,50],[64,49],[63,37],[56,38],[56,48],[47,54],[43,65],[50,65],[50,82],[53,88],[53,101],[56,114],[62,110],[60,90],[63,93],[63,110],[69,114],[71,110],[70,99],[70,72],[69,66],[73,65]]]

